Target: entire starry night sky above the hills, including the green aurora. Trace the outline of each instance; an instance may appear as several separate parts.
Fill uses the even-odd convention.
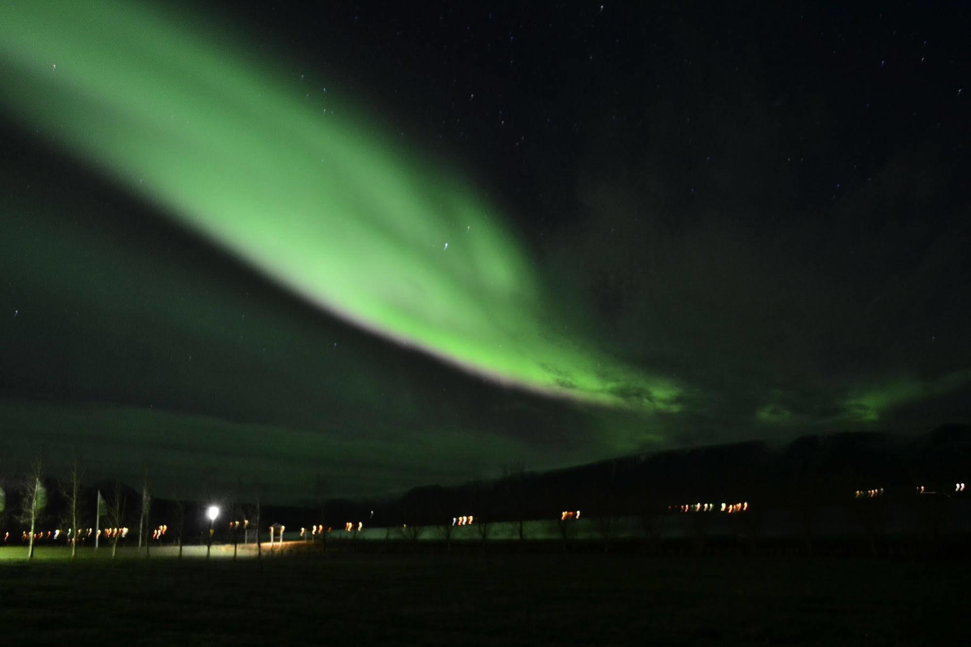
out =
[[[0,469],[305,502],[971,422],[969,18],[4,2]]]

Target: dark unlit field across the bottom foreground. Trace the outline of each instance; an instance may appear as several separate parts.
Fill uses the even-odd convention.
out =
[[[24,644],[944,645],[969,562],[639,555],[0,561]]]

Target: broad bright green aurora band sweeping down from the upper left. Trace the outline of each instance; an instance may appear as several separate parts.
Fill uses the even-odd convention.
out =
[[[672,381],[554,331],[529,259],[467,181],[192,18],[8,2],[3,104],[337,316],[503,383],[680,410]]]

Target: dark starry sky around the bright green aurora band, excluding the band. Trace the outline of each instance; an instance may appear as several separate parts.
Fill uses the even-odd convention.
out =
[[[318,474],[375,494],[971,421],[966,6],[188,11],[468,169],[570,325],[694,391],[639,417],[487,384],[320,313],[5,120],[6,463],[80,452],[185,494],[299,500]]]

